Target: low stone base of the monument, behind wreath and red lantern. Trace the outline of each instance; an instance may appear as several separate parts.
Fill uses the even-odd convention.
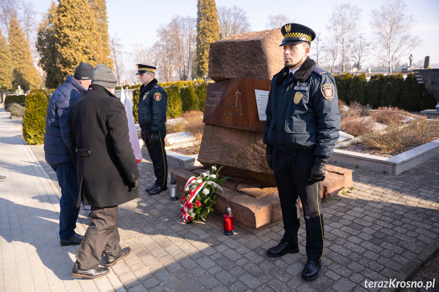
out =
[[[188,179],[206,170],[204,167],[181,169],[172,171],[171,177],[177,182],[179,192],[183,193]],[[352,182],[352,171],[328,165],[326,179],[321,183],[321,199],[337,196]],[[223,214],[226,205],[229,205],[235,222],[246,231],[256,234],[282,219],[277,187],[265,187],[260,183],[236,178],[227,179],[221,187],[224,193],[217,194],[214,209]]]

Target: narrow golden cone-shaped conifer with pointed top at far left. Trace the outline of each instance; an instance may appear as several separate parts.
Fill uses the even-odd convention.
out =
[[[34,66],[29,43],[27,43],[23,30],[15,18],[10,21],[8,38],[14,69],[13,88],[20,85],[21,89],[27,91],[40,87],[41,77]]]

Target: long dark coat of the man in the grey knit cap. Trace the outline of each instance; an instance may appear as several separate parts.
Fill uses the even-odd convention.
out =
[[[124,105],[101,85],[70,109],[70,153],[76,164],[78,186],[84,205],[118,206],[139,197],[129,184],[139,178],[131,147]]]

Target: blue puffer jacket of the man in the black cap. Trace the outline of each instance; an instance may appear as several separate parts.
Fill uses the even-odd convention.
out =
[[[72,76],[53,91],[46,116],[46,135],[44,152],[49,165],[72,161],[70,156],[69,126],[67,116],[69,108],[87,93],[87,90]]]

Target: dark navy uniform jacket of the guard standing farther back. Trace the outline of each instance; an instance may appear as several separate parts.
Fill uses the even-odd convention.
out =
[[[139,126],[151,128],[154,134],[160,132],[166,122],[167,99],[165,90],[157,85],[156,79],[142,85],[139,94]]]

